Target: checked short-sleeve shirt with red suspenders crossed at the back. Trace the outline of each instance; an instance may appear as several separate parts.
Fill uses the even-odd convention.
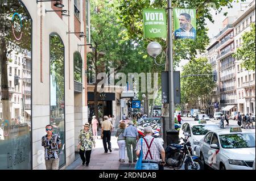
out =
[[[146,139],[147,144],[149,146],[152,138],[154,138],[154,137],[152,137],[150,135],[146,135],[146,136],[144,136],[144,138]],[[143,139],[143,138],[141,138],[141,139]],[[139,139],[137,142],[136,150],[141,150],[141,139]],[[161,142],[158,141],[157,138],[154,138],[154,140],[151,144],[151,147],[150,147],[150,153],[152,155],[152,159],[150,157],[150,154],[149,153],[147,154],[148,149],[147,149],[147,145],[146,145],[146,142],[144,141],[144,139],[142,140],[142,150],[143,150],[142,160],[151,160],[151,161],[159,162],[160,161],[160,153],[161,153],[160,151],[164,150],[164,148],[163,148],[163,145],[161,144]],[[147,154],[147,157],[146,157],[146,154]]]

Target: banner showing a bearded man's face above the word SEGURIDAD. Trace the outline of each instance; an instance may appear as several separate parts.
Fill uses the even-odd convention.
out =
[[[174,39],[196,38],[196,9],[174,9]]]

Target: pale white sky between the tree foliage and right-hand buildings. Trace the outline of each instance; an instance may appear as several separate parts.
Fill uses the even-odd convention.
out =
[[[220,14],[215,15],[215,11],[212,10],[211,14],[213,15],[213,20],[214,23],[211,23],[209,20],[207,20],[207,27],[209,28],[208,31],[208,36],[209,38],[212,38],[214,36],[216,36],[221,28],[222,28],[222,21],[226,18],[226,16],[223,15],[224,12],[228,12],[227,16],[237,16],[239,11],[241,10],[241,6],[245,6],[246,4],[243,3],[250,3],[253,2],[253,0],[246,0],[245,2],[242,2],[241,5],[241,1],[239,1],[239,3],[237,2],[233,2],[233,8],[232,9],[228,9],[228,7],[224,7],[223,10],[220,12]],[[242,7],[242,10],[244,10],[245,8]],[[177,71],[181,71],[182,70],[182,66],[187,64],[188,60],[184,60],[181,61],[179,64],[179,68],[177,68]]]

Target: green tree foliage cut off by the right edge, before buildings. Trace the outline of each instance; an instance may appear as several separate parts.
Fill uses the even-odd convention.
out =
[[[237,60],[241,60],[246,70],[255,70],[255,24],[250,24],[251,31],[242,35],[242,46],[234,53]]]

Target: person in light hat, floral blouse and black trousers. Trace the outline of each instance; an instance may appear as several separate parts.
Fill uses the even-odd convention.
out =
[[[82,165],[89,166],[90,154],[92,153],[92,146],[95,148],[95,140],[93,138],[93,133],[90,131],[90,124],[85,123],[84,129],[81,129],[79,134],[79,154],[82,159]],[[85,157],[84,157],[85,154]]]

